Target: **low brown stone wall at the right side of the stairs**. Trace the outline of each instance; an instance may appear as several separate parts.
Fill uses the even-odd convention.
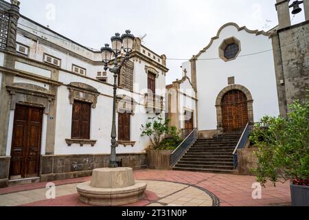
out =
[[[244,148],[244,149],[238,149],[238,166],[237,171],[239,175],[253,175],[251,173],[251,168],[257,168],[258,160],[253,154],[253,152],[256,150],[255,147],[253,148]]]

